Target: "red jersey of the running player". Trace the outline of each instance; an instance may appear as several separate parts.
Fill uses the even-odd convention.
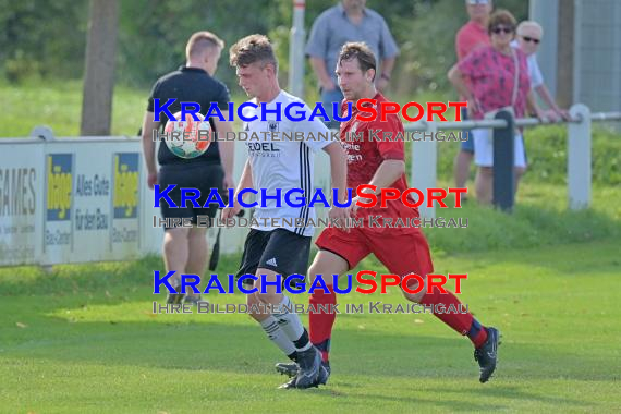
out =
[[[377,102],[387,101],[380,94],[373,98]],[[369,104],[370,106],[370,104]],[[342,113],[346,113],[346,101],[343,101]],[[353,196],[355,197],[355,188],[362,184],[368,184],[375,172],[383,162],[383,160],[394,159],[405,161],[404,153],[404,130],[403,123],[399,115],[389,113],[385,122],[380,121],[381,112],[379,105],[375,106],[378,114],[373,121],[358,121],[356,114],[360,112],[355,102],[352,102],[352,117],[349,121],[341,123],[340,138],[341,144],[345,148],[348,155],[348,187],[353,188]],[[368,117],[368,112],[363,112],[364,117]],[[362,136],[361,136],[362,133]],[[354,135],[356,134],[356,135]],[[400,136],[400,138],[397,138]],[[389,187],[398,188],[401,193],[407,190],[407,180],[405,174],[402,174]],[[365,202],[368,202],[366,199]],[[415,200],[413,200],[415,202]],[[398,218],[412,219],[418,216],[418,209],[405,206],[400,199],[388,202],[387,208],[380,207],[378,196],[377,205],[369,208],[358,208],[357,218],[362,218],[367,228],[368,216],[381,216],[386,222],[386,218],[392,218],[392,223],[397,222]],[[412,231],[415,228],[406,227],[373,227],[368,230],[381,232],[385,230],[390,231]]]

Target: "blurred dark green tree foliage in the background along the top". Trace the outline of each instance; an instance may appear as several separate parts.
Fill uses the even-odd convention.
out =
[[[183,64],[190,35],[217,33],[227,42],[217,76],[235,82],[228,68],[228,48],[239,38],[267,34],[275,41],[283,85],[288,75],[292,0],[119,0],[117,83],[147,88]],[[308,0],[305,25],[336,0]],[[496,0],[518,20],[527,17],[528,2]],[[467,21],[461,0],[368,0],[381,13],[400,48],[393,88],[422,93],[446,90],[446,73],[455,60],[454,35]],[[82,78],[89,2],[86,0],[0,0],[0,77],[9,83],[33,78]],[[307,90],[314,89],[310,68]]]

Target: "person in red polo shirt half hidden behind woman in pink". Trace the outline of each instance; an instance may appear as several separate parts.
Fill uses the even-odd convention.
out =
[[[459,29],[455,36],[455,51],[458,62],[462,61],[473,50],[489,46],[489,35],[487,33],[487,22],[491,13],[491,0],[466,0],[466,11],[470,21]],[[467,82],[467,81],[466,81]],[[462,97],[462,99],[465,99]],[[462,110],[462,119],[467,119],[467,111]],[[470,176],[470,165],[474,158],[474,139],[471,131],[464,131],[468,137],[462,141],[460,151],[455,156],[453,174],[455,185],[463,188]]]

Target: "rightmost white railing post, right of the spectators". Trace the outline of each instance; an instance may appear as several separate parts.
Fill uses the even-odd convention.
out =
[[[570,114],[581,119],[579,123],[568,124],[569,208],[577,210],[590,205],[590,110],[576,104]]]

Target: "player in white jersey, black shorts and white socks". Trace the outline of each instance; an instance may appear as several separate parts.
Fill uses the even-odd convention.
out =
[[[257,108],[244,108],[244,117],[256,120],[244,122],[244,131],[248,135],[258,133],[260,141],[248,141],[248,159],[246,160],[241,181],[235,191],[235,205],[222,210],[222,219],[234,217],[241,206],[236,200],[238,193],[243,188],[253,187],[259,195],[255,218],[259,226],[251,229],[244,245],[244,253],[239,275],[256,275],[254,282],[257,292],[247,295],[248,307],[252,305],[271,305],[283,309],[291,306],[288,296],[277,292],[277,287],[267,282],[275,282],[278,276],[284,278],[289,275],[304,275],[308,265],[312,226],[288,226],[288,221],[295,219],[307,222],[315,219],[315,212],[308,206],[308,198],[314,190],[313,158],[314,153],[322,149],[330,157],[332,188],[338,188],[339,198],[345,198],[346,158],[338,141],[317,139],[319,133],[329,134],[321,122],[321,118],[309,121],[310,109],[300,99],[280,89],[278,84],[278,62],[268,38],[263,35],[244,37],[231,47],[231,66],[236,68],[240,86],[252,98],[251,102]],[[305,110],[305,120],[292,121],[285,117],[284,108],[292,102],[300,107],[291,111]],[[261,104],[265,105],[261,108]],[[279,109],[280,114],[275,113]],[[279,120],[280,118],[280,120]],[[261,121],[265,119],[265,121]],[[276,133],[276,134],[266,134]],[[303,132],[307,137],[303,141],[287,139],[284,136]],[[315,138],[315,139],[313,139]],[[268,195],[276,195],[280,190],[284,195],[292,188],[302,188],[306,202],[302,207],[291,207],[282,202],[277,206],[273,198],[263,199],[261,188]],[[330,219],[340,221],[343,227],[349,217],[346,208],[331,208]],[[283,218],[288,220],[282,220]],[[264,226],[266,219],[268,226]],[[276,219],[272,226],[272,220]],[[261,293],[261,275],[266,278],[266,293]],[[281,279],[282,280],[282,279]],[[260,309],[269,309],[264,306]],[[292,361],[300,365],[300,373],[281,388],[308,388],[317,383],[321,375],[327,373],[321,367],[321,355],[308,340],[308,333],[302,326],[295,313],[251,313],[251,316],[261,325],[269,339]]]

